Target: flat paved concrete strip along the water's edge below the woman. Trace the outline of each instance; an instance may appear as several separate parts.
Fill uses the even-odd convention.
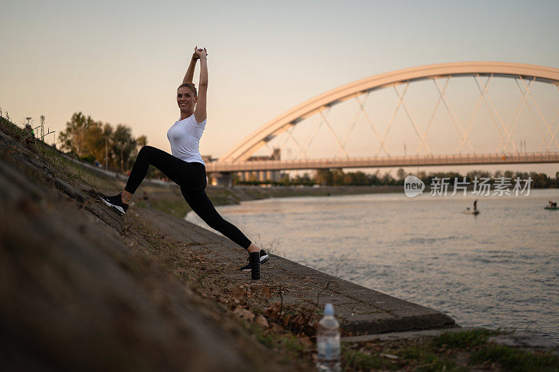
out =
[[[200,254],[200,246],[204,246],[208,276],[233,285],[242,285],[249,280],[249,273],[235,270],[246,259],[246,252],[227,238],[159,210],[140,209],[136,213],[146,222],[150,221],[160,234],[168,236],[181,250],[195,255]],[[316,306],[319,311],[325,303],[333,303],[342,328],[353,334],[456,327],[449,316],[437,310],[382,294],[282,257],[272,255],[270,261],[261,266],[261,274],[261,283],[273,288],[270,303],[303,302]]]

